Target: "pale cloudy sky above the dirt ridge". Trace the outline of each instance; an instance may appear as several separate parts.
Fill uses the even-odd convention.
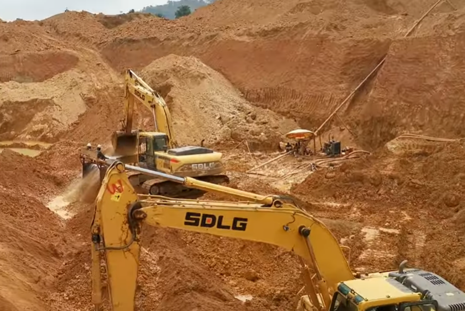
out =
[[[108,15],[140,10],[148,5],[165,4],[167,0],[0,0],[0,18],[10,22],[17,18],[27,21],[42,20],[70,11],[88,11]]]

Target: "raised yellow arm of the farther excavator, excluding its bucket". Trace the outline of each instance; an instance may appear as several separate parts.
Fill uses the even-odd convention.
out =
[[[150,109],[155,123],[155,132],[162,132],[168,136],[168,148],[175,148],[178,143],[173,131],[170,110],[163,97],[154,91],[134,71],[128,69],[125,75],[124,91],[124,131],[130,134],[133,126],[134,99]]]

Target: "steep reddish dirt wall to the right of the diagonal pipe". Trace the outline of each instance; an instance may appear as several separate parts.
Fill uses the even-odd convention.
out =
[[[464,85],[458,79],[465,69],[464,38],[461,34],[393,43],[370,95],[351,107],[351,114],[361,115],[365,144],[378,147],[405,132],[465,137],[465,129],[457,126],[465,115],[455,112],[465,109]],[[412,78],[418,76],[422,78]]]

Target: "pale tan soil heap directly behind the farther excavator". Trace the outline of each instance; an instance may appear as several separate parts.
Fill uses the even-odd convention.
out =
[[[181,144],[247,139],[254,147],[276,147],[297,127],[270,110],[251,106],[226,78],[194,57],[160,58],[145,67],[141,77],[169,105]],[[148,110],[144,115],[142,128],[147,128],[153,118]]]

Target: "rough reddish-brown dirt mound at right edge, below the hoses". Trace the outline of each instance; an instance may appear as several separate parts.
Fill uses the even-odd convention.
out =
[[[292,192],[318,200],[382,203],[402,210],[428,206],[425,211],[434,210],[436,219],[452,217],[460,209],[465,198],[461,186],[465,178],[463,145],[437,145],[435,152],[414,150],[395,158],[387,158],[387,154],[344,163],[334,173],[311,174]]]

